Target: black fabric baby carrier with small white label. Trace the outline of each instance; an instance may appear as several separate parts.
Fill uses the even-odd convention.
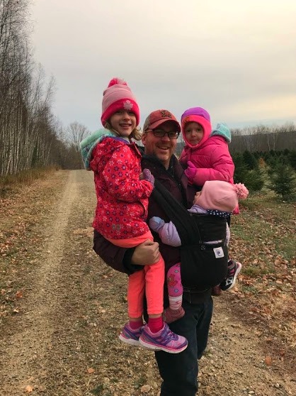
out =
[[[181,277],[184,291],[198,292],[219,285],[227,274],[227,219],[192,214],[157,180],[152,192],[181,239]],[[207,241],[220,241],[208,244]]]

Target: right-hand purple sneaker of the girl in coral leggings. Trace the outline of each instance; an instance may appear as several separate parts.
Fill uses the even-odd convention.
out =
[[[153,351],[164,351],[168,353],[180,353],[188,346],[188,341],[183,336],[173,333],[169,325],[164,323],[164,327],[157,333],[152,333],[146,324],[140,335],[140,345]]]

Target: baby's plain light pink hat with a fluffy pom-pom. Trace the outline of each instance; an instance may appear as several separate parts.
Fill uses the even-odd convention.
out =
[[[248,195],[248,189],[241,183],[232,185],[220,180],[208,180],[194,203],[203,209],[217,209],[231,213],[239,204],[239,198],[245,199]]]

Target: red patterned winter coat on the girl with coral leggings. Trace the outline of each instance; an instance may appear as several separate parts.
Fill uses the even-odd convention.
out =
[[[135,143],[120,138],[104,138],[92,150],[97,197],[93,228],[106,238],[133,238],[149,231],[145,220],[153,186],[140,180],[140,161]]]

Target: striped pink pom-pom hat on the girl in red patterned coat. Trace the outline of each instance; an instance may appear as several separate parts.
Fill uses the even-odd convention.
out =
[[[137,125],[140,123],[140,110],[137,100],[127,83],[120,78],[113,78],[103,92],[102,116],[103,126],[116,111],[127,110],[135,113]]]

